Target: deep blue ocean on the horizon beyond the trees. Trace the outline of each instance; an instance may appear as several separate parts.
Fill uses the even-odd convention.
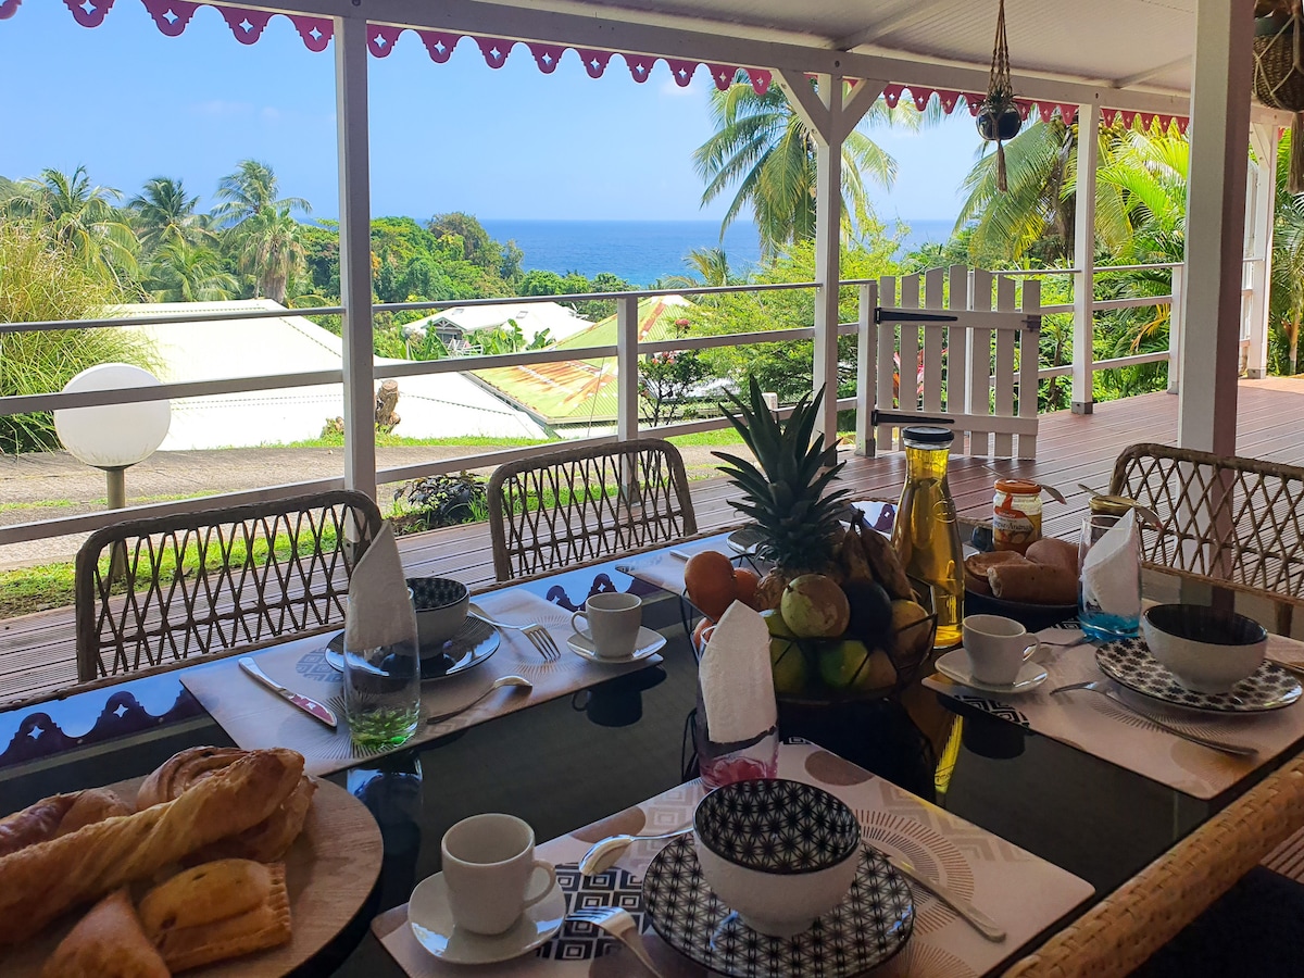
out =
[[[499,241],[512,240],[524,252],[522,267],[592,278],[610,271],[626,282],[648,286],[668,275],[685,275],[685,257],[695,248],[725,249],[735,271],[747,271],[760,259],[760,243],[751,223],[735,222],[720,241],[715,220],[511,220],[482,219],[485,231]],[[904,222],[910,231],[898,254],[925,243],[944,243],[951,220]]]

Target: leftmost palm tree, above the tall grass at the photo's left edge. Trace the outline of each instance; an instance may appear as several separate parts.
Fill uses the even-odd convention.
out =
[[[22,180],[5,203],[9,216],[27,219],[89,269],[121,284],[136,271],[138,243],[113,206],[120,190],[93,186],[86,167],[72,173],[40,171],[38,180]]]

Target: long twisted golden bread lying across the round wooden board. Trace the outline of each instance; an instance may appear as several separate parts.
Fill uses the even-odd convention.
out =
[[[0,947],[29,938],[69,908],[257,825],[303,773],[303,755],[295,751],[252,751],[176,801],[0,858]]]

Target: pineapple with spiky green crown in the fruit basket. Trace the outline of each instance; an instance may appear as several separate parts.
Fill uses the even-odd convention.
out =
[[[763,535],[758,554],[775,563],[756,589],[758,605],[775,608],[788,583],[802,574],[841,576],[835,546],[842,527],[838,514],[846,489],[824,494],[841,471],[837,447],[824,447],[824,436],[811,439],[824,391],[797,402],[788,421],[778,421],[765,404],[755,378],[748,383],[748,400],[730,394],[735,415],[721,406],[756,456],[752,463],[724,451],[712,452],[729,481],[742,490],[742,499],[729,505],[756,522]]]

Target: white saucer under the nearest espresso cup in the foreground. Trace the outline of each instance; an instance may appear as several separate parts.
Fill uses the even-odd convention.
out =
[[[541,876],[546,879],[546,874],[536,868],[527,893],[539,892],[535,887]],[[408,902],[408,926],[417,944],[441,961],[455,965],[490,965],[520,957],[561,930],[565,919],[566,895],[559,885],[554,885],[548,896],[526,908],[526,913],[506,932],[486,936],[464,931],[452,923],[449,884],[443,882],[442,872],[421,880]]]

